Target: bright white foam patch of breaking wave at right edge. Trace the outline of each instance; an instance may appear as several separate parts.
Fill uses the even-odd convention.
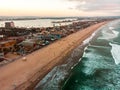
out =
[[[112,46],[112,49],[111,49],[112,57],[115,60],[115,63],[119,64],[120,63],[120,45],[112,44],[112,43],[110,43],[110,45]]]

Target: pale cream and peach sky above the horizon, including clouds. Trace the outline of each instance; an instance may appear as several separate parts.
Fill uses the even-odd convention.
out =
[[[120,0],[0,0],[0,16],[120,16]]]

